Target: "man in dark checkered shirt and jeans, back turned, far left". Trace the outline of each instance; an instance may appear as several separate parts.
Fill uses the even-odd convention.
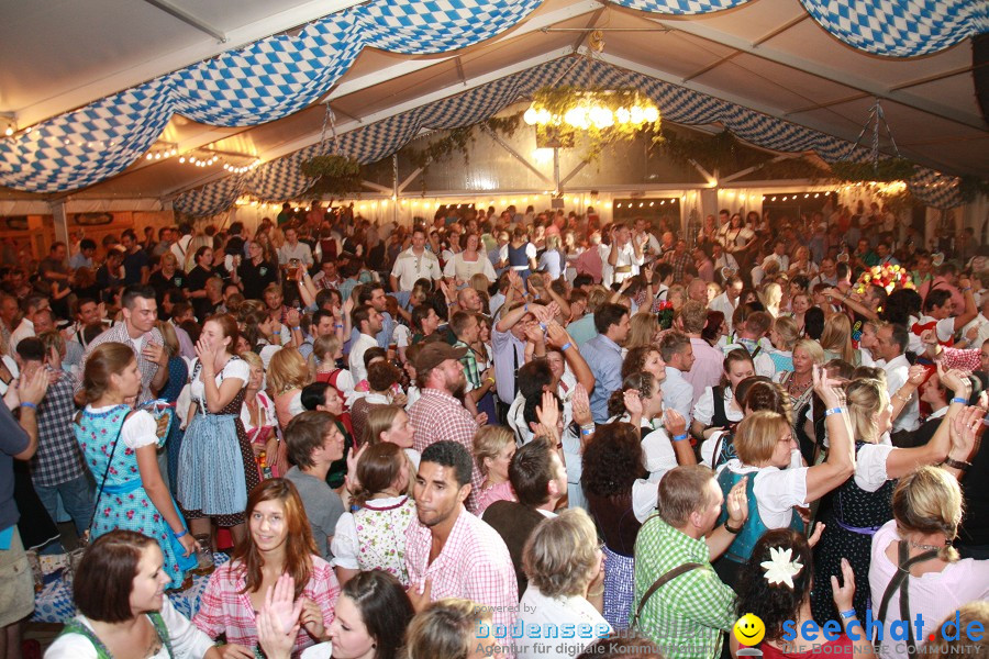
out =
[[[58,375],[37,405],[37,453],[29,463],[31,482],[53,520],[57,518],[58,495],[62,495],[65,511],[76,524],[76,532],[82,535],[92,517],[93,502],[90,479],[87,478],[73,431],[76,380],[67,372],[46,367],[45,357],[44,345],[37,337],[23,338],[18,344],[16,359],[21,372],[46,369]]]

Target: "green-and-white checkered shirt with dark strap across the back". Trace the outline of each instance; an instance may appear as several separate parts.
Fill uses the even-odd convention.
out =
[[[635,600],[663,574],[685,562],[701,563],[653,593],[638,619],[638,630],[666,659],[716,659],[722,632],[735,624],[735,593],[709,563],[708,545],[668,525],[658,515],[643,524],[635,540]]]

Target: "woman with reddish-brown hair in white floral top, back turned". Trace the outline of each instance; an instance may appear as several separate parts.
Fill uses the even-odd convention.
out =
[[[330,545],[336,578],[346,583],[360,571],[384,570],[409,585],[405,529],[416,518],[409,459],[382,442],[360,451],[353,476],[352,512],[337,520]]]

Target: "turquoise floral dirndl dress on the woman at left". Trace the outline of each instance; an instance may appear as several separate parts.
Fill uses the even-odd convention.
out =
[[[107,473],[103,490],[95,504],[90,533],[96,539],[122,528],[157,540],[165,555],[164,569],[171,578],[169,588],[179,588],[186,570],[196,566],[196,556],[187,558],[178,551],[181,546],[173,540],[171,528],[144,490],[137,469],[137,451],[123,444],[113,450],[113,445],[121,442],[121,431],[130,412],[129,405],[116,405],[105,412],[92,412],[87,407],[74,426],[76,440],[97,481],[98,491],[100,480]],[[113,462],[108,470],[111,454]]]

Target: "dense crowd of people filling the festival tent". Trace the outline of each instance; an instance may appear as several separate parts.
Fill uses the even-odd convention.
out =
[[[53,659],[985,648],[989,269],[890,215],[313,202],[0,268],[0,659],[64,520]]]

